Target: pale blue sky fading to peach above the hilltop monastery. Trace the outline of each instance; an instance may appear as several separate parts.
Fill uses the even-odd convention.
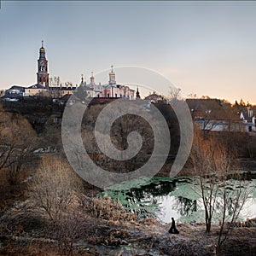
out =
[[[42,40],[49,75],[62,83],[135,66],[160,73],[184,97],[256,103],[254,1],[1,0],[0,89],[36,84]],[[96,82],[107,83],[108,72]]]

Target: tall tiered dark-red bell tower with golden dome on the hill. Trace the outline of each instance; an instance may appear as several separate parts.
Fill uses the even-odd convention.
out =
[[[38,59],[38,84],[49,86],[49,73],[48,73],[48,61],[45,57],[44,41],[42,41],[42,47],[39,49]]]

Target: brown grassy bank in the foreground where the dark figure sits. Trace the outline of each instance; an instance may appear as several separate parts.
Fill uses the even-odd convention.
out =
[[[204,224],[177,222],[180,233],[172,235],[167,232],[170,224],[161,224],[154,218],[139,219],[123,212],[119,205],[112,205],[108,198],[99,204],[91,204],[89,198],[85,200],[85,203],[81,201],[73,205],[72,211],[67,213],[76,211],[79,223],[68,222],[62,230],[71,239],[73,231],[78,229],[72,241],[75,256],[214,255],[217,225],[212,226],[212,232],[207,235]],[[104,201],[108,203],[104,205]],[[99,205],[103,207],[96,208]],[[70,218],[72,216],[68,215],[67,219],[74,219]],[[0,255],[64,255],[60,253],[63,241],[60,243],[53,230],[54,224],[45,212],[32,207],[31,201],[16,203],[1,217]],[[247,222],[247,226],[234,227],[232,231],[222,255],[255,255],[256,219]]]

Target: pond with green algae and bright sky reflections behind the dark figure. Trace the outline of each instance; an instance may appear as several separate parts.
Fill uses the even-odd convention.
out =
[[[247,193],[247,201],[242,207],[240,218],[255,218],[255,177],[248,177],[242,183],[230,179],[227,187],[230,196],[227,214],[232,212],[232,198],[237,189],[241,189],[242,193]],[[172,217],[187,222],[204,221],[199,180],[193,177],[154,177],[150,180],[141,178],[113,185],[105,193],[119,201],[128,211],[136,212],[141,218],[154,216],[166,223],[169,223]],[[221,199],[220,189],[213,218],[216,222],[222,213]]]

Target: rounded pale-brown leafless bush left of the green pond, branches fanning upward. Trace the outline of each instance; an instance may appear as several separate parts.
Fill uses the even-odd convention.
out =
[[[78,199],[82,181],[65,160],[44,157],[32,182],[32,198],[36,205],[56,222]]]

